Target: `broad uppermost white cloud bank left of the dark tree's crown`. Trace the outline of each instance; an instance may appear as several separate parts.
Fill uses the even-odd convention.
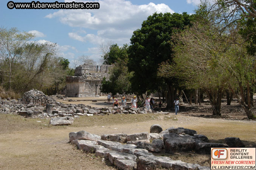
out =
[[[72,1],[65,0],[65,2]],[[58,17],[62,23],[72,27],[102,29],[102,27],[118,28],[120,25],[124,25],[137,28],[143,20],[146,20],[154,12],[174,12],[163,3],[157,5],[154,3],[133,5],[130,1],[125,0],[100,0],[98,2],[100,9],[59,10],[45,17],[49,19]]]

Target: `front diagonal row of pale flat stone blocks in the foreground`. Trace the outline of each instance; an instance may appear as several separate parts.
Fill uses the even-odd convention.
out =
[[[174,161],[166,156],[154,156],[146,149],[137,148],[136,145],[122,145],[112,141],[73,140],[78,149],[95,153],[95,156],[104,157],[117,168],[123,170],[155,170],[158,166],[173,170],[209,170],[199,164],[189,164],[180,160]]]

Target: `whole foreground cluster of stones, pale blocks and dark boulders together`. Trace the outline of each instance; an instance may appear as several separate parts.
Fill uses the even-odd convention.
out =
[[[159,129],[160,125],[152,125]],[[166,156],[154,156],[158,152],[196,151],[197,153],[210,153],[211,147],[230,147],[227,144],[209,143],[205,135],[197,134],[195,130],[186,128],[168,128],[159,133],[125,133],[103,134],[98,136],[86,131],[70,132],[69,139],[78,149],[95,153],[103,160],[122,170],[155,170],[157,167],[182,170],[210,170],[210,167],[190,164],[180,160],[172,160]],[[231,142],[234,138],[226,138]],[[152,140],[152,143],[149,142]],[[241,146],[239,138],[235,138]],[[239,142],[240,141],[240,142]],[[126,144],[124,143],[126,142]],[[236,147],[236,146],[234,146]]]

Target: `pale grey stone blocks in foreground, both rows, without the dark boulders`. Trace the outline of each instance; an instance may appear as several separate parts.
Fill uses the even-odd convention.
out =
[[[147,137],[145,136],[145,134],[147,135]],[[155,139],[154,141],[158,141],[158,144],[156,144],[156,146],[161,145],[161,147],[159,147],[159,150],[154,149],[154,141],[152,142],[152,144],[146,145],[148,146],[148,148],[143,148],[143,145],[145,145],[146,142],[141,142],[141,139],[150,139],[148,133],[126,135],[125,141],[127,142],[127,144],[124,145],[121,144],[120,142],[105,141],[109,139],[119,141],[118,136],[122,136],[122,138],[124,139],[125,135],[102,135],[100,137],[98,135],[91,134],[86,131],[71,132],[69,134],[70,142],[72,144],[75,144],[79,149],[84,150],[86,152],[95,153],[96,156],[104,157],[105,160],[109,159],[109,161],[112,164],[115,164],[116,167],[119,169],[132,170],[137,168],[138,170],[154,170],[156,169],[156,167],[159,166],[175,170],[209,170],[209,167],[202,167],[198,164],[189,164],[182,162],[180,160],[174,161],[171,158],[165,156],[154,156],[153,153],[150,153],[148,150],[153,152],[161,151],[163,143],[159,144],[159,141],[162,140]],[[129,142],[134,142],[129,140],[137,141],[135,143],[137,146],[134,144],[128,144]]]

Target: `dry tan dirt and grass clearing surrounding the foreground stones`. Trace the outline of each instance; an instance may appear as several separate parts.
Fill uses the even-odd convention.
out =
[[[206,119],[182,115],[81,116],[70,126],[50,126],[49,120],[25,119],[0,114],[0,169],[115,169],[94,155],[69,144],[68,133],[85,130],[94,134],[149,132],[152,124],[191,128],[210,140],[239,137],[256,145],[256,121]],[[40,122],[39,122],[40,121]],[[197,163],[197,162],[194,162]]]

